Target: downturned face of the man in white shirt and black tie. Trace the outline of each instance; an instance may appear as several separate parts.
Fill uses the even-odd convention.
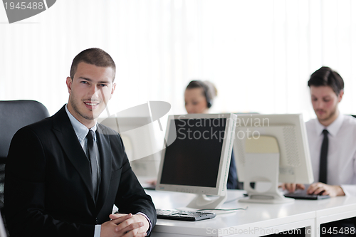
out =
[[[337,115],[337,105],[342,99],[343,90],[336,95],[328,85],[310,86],[313,109],[320,122],[330,120]]]

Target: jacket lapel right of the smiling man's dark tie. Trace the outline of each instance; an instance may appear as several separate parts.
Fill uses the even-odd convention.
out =
[[[99,196],[97,201],[97,210],[100,211],[108,195],[111,179],[112,152],[110,147],[110,137],[108,130],[100,124],[97,124],[96,132],[97,144],[100,154],[101,181]]]

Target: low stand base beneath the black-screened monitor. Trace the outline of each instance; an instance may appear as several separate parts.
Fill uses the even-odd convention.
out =
[[[221,196],[206,196],[205,194],[197,194],[197,196],[188,204],[190,209],[219,209],[227,199],[226,191]]]

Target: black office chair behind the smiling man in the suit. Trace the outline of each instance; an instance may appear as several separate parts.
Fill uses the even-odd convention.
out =
[[[21,127],[48,116],[48,110],[40,102],[0,100],[0,209],[4,207],[5,164],[12,137]]]

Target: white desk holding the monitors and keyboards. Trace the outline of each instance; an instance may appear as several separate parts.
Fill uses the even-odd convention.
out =
[[[307,227],[306,236],[319,236],[320,223],[356,216],[356,197],[336,197],[318,201],[295,200],[294,204],[241,204],[228,202],[243,191],[229,191],[224,209],[245,208],[215,218],[189,222],[158,219],[152,237],[265,236],[280,231]],[[147,191],[157,209],[187,206],[193,194]]]

